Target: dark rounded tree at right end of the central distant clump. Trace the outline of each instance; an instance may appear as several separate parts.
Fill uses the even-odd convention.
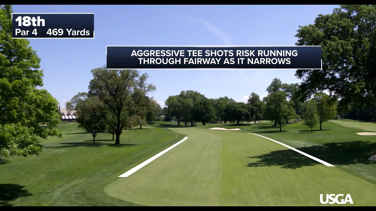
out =
[[[206,125],[206,122],[215,119],[214,108],[210,99],[202,96],[196,101],[195,104],[195,119],[197,122],[202,122],[202,125]]]

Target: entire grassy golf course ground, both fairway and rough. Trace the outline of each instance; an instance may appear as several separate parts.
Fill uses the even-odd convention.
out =
[[[346,122],[348,127],[337,122]],[[63,138],[48,138],[40,155],[10,157],[0,164],[3,206],[320,206],[320,194],[350,194],[353,204],[376,205],[375,136],[362,122],[325,122],[307,132],[300,122],[206,124],[177,128],[152,122],[124,130],[121,145],[110,133],[91,134],[61,123]],[[213,127],[238,131],[209,130]],[[326,161],[328,167],[276,142]],[[118,177],[174,143],[128,177]],[[329,204],[327,204],[329,205]],[[341,206],[340,204],[334,204]],[[343,205],[342,205],[343,206]]]

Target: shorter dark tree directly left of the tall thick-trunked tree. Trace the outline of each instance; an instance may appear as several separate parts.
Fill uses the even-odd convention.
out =
[[[108,129],[107,122],[100,115],[101,108],[98,106],[98,101],[97,97],[86,98],[79,101],[75,106],[77,116],[79,116],[77,118],[78,127],[91,133],[93,142],[95,142],[95,137],[98,133]]]

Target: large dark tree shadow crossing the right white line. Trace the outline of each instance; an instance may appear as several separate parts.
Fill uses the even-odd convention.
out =
[[[316,145],[296,149],[333,165],[376,163],[376,161],[368,159],[376,151],[376,143],[366,141],[326,143],[322,146]],[[273,151],[248,158],[259,159],[253,163],[248,163],[248,167],[280,166],[285,169],[297,169],[303,166],[321,165],[321,163],[291,149]]]

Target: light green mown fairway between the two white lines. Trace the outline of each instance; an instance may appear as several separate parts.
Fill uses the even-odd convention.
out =
[[[171,130],[189,138],[105,193],[147,206],[320,206],[320,194],[331,193],[351,194],[357,206],[376,204],[376,185],[262,137]]]

